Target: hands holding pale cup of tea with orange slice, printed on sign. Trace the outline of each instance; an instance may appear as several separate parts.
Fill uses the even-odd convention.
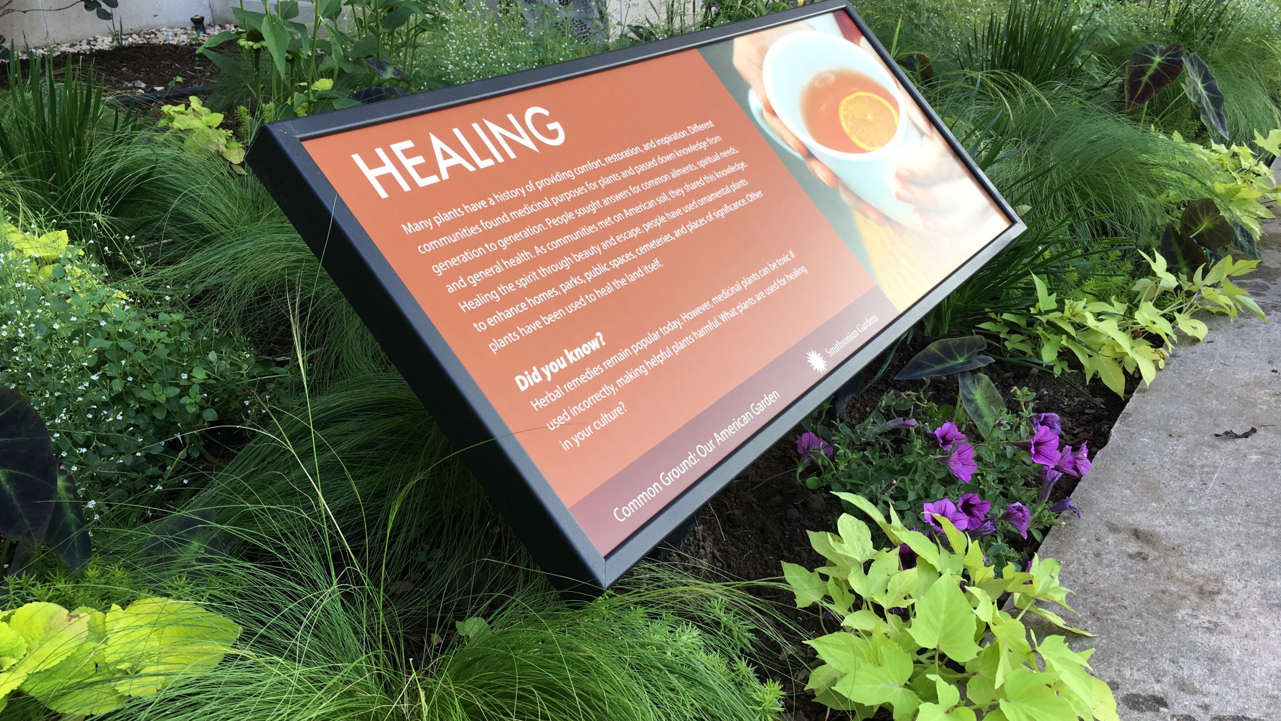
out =
[[[734,69],[766,135],[856,213],[895,233],[989,225],[991,200],[867,40],[815,24],[733,41]]]

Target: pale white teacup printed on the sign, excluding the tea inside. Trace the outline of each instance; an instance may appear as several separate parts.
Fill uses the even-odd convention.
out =
[[[848,68],[872,78],[893,98],[898,110],[898,128],[884,146],[866,153],[842,153],[820,145],[806,128],[801,114],[801,91],[819,73]],[[921,148],[921,131],[907,117],[903,94],[898,82],[874,55],[862,47],[825,32],[801,31],[780,37],[765,54],[765,92],[775,114],[793,135],[810,149],[822,164],[869,205],[908,227],[920,227],[912,216],[916,205],[894,198],[892,190],[894,169],[904,155]],[[794,150],[765,122],[765,108],[755,91],[748,92],[748,104],[757,122],[783,148]]]

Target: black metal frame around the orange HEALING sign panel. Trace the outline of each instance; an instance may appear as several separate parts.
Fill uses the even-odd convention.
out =
[[[712,42],[845,12],[867,37],[910,96],[965,162],[984,190],[1011,221],[1011,227],[961,264],[931,291],[888,323],[842,364],[826,373],[772,421],[748,436],[724,461],[703,473],[657,516],[607,556],[588,540],[556,491],[547,482],[511,428],[445,341],[423,308],[374,241],[338,198],[338,192],[304,149],[305,140],[420,115],[596,73],[620,65],[696,49]],[[671,531],[729,484],[756,457],[808,416],[838,387],[884,352],[925,313],[1009,245],[1026,226],[975,165],[956,137],[894,63],[845,0],[811,5],[635,45],[589,58],[569,60],[507,76],[433,90],[359,108],[323,113],[265,126],[249,153],[249,164],[277,199],[302,239],[320,258],[352,308],[382,344],[391,360],[423,400],[464,461],[480,480],[494,505],[524,540],[542,570],[562,589],[603,589],[643,558]]]

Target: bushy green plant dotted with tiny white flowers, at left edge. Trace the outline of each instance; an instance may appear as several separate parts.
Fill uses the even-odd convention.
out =
[[[0,221],[0,385],[40,411],[95,514],[163,490],[200,455],[199,431],[243,416],[278,375],[242,341],[201,327],[175,291],[136,299],[113,287],[64,230]]]

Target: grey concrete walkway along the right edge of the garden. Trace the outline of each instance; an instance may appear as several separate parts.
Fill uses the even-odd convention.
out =
[[[1239,285],[1271,322],[1207,318],[1181,343],[1041,547],[1126,721],[1281,720],[1281,222],[1264,228]]]

